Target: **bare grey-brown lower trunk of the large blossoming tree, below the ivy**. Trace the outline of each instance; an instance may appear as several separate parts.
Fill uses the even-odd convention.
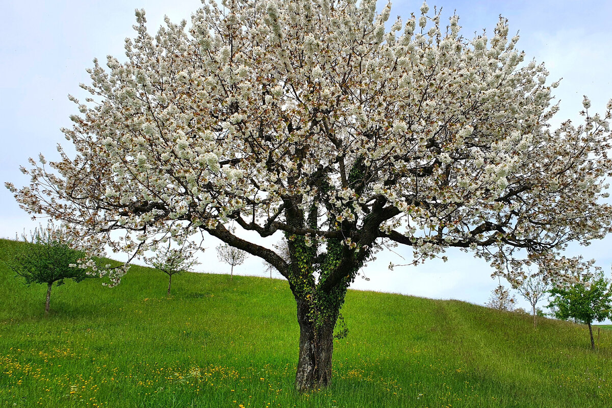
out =
[[[297,305],[300,324],[300,354],[297,361],[296,390],[300,392],[327,387],[332,381],[335,321],[319,325],[311,321],[308,307]],[[304,302],[306,303],[306,302]],[[304,304],[302,303],[302,304]]]

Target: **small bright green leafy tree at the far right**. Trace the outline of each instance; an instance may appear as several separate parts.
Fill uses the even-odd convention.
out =
[[[549,308],[554,307],[558,319],[576,319],[589,326],[591,349],[595,349],[593,321],[600,322],[612,316],[612,283],[602,272],[585,274],[571,285],[559,285],[551,289],[554,296]]]

